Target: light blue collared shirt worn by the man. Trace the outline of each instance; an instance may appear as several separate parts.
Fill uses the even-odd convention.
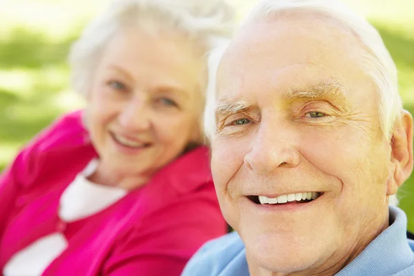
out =
[[[390,207],[390,226],[376,237],[337,276],[414,276],[414,241],[406,237],[407,218]],[[181,276],[250,276],[246,249],[237,233],[205,244]]]

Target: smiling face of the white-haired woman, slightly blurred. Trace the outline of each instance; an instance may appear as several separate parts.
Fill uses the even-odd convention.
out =
[[[98,172],[108,175],[103,181],[148,181],[199,141],[204,72],[195,46],[178,34],[126,28],[112,37],[92,79],[86,117]]]

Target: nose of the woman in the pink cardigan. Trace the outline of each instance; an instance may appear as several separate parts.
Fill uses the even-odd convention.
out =
[[[135,97],[125,103],[118,121],[122,128],[131,132],[148,130],[150,127],[150,105],[143,97]]]

